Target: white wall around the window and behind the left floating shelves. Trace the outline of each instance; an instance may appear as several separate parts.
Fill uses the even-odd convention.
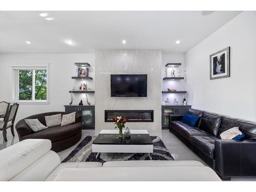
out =
[[[75,86],[78,88],[80,82],[87,82],[91,90],[94,90],[94,54],[0,54],[0,101],[10,101],[11,80],[10,66],[22,63],[50,63],[49,65],[49,104],[20,104],[16,120],[29,115],[51,112],[65,111],[63,105],[68,105],[71,100],[70,90]],[[88,62],[89,76],[93,80],[75,80],[72,76],[77,76],[77,67],[74,62]],[[86,104],[84,94],[73,94],[73,104],[78,104],[80,99]],[[91,104],[94,104],[94,94],[88,94]]]

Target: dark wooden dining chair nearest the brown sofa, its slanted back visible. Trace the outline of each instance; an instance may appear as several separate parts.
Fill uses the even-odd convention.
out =
[[[4,121],[0,121],[0,131],[3,131],[4,140],[7,141],[6,130],[11,127],[12,136],[14,137],[14,121],[18,111],[18,103],[10,106],[8,113],[5,115]]]

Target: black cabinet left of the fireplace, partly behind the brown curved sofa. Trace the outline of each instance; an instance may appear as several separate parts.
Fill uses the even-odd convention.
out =
[[[94,105],[64,105],[65,112],[77,112],[82,116],[82,129],[95,129]]]

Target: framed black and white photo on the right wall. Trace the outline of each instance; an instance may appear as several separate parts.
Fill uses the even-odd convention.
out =
[[[210,55],[210,79],[230,77],[230,47]]]

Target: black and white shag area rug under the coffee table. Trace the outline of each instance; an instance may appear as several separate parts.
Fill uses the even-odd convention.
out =
[[[159,137],[151,136],[151,139],[153,141],[152,160],[174,160]],[[84,138],[62,163],[150,160],[148,154],[134,153],[100,153],[96,159],[97,153],[92,153],[93,141],[94,137],[87,136]]]

